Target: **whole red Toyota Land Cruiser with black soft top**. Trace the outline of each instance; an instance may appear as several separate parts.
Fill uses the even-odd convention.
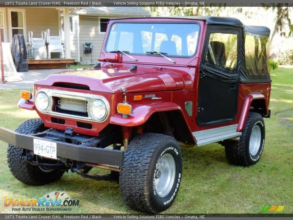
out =
[[[93,68],[21,91],[18,106],[40,119],[0,129],[11,173],[29,185],[68,170],[118,181],[128,206],[158,213],[184,176],[179,146],[218,142],[229,163],[257,163],[270,116],[269,33],[228,17],[110,20]]]

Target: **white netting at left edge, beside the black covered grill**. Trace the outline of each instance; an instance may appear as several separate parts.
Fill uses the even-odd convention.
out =
[[[16,71],[14,63],[13,63],[13,59],[12,59],[12,55],[10,51],[10,43],[2,43],[2,53],[3,53],[3,67],[4,67],[5,82],[21,81],[22,79],[19,73]],[[2,81],[3,79],[2,79],[1,65],[0,65],[0,82]]]

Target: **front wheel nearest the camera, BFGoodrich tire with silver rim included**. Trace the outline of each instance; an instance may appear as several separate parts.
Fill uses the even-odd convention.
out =
[[[174,202],[182,178],[182,155],[177,141],[164,134],[136,136],[125,152],[119,185],[131,208],[159,213]]]

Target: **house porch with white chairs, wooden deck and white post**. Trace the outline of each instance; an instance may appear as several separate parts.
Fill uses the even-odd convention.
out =
[[[75,57],[71,55],[71,50],[75,48],[72,44],[73,24],[70,16],[74,9],[71,7],[2,7],[0,8],[2,42],[12,43],[13,35],[23,34],[28,52],[26,61],[29,69],[69,68],[75,61]],[[29,55],[31,51],[34,53]],[[51,57],[51,53],[54,52],[57,52],[58,56]]]

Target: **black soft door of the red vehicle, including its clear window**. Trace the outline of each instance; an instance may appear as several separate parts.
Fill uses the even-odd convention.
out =
[[[197,124],[215,125],[237,116],[241,29],[208,26],[198,84]]]

